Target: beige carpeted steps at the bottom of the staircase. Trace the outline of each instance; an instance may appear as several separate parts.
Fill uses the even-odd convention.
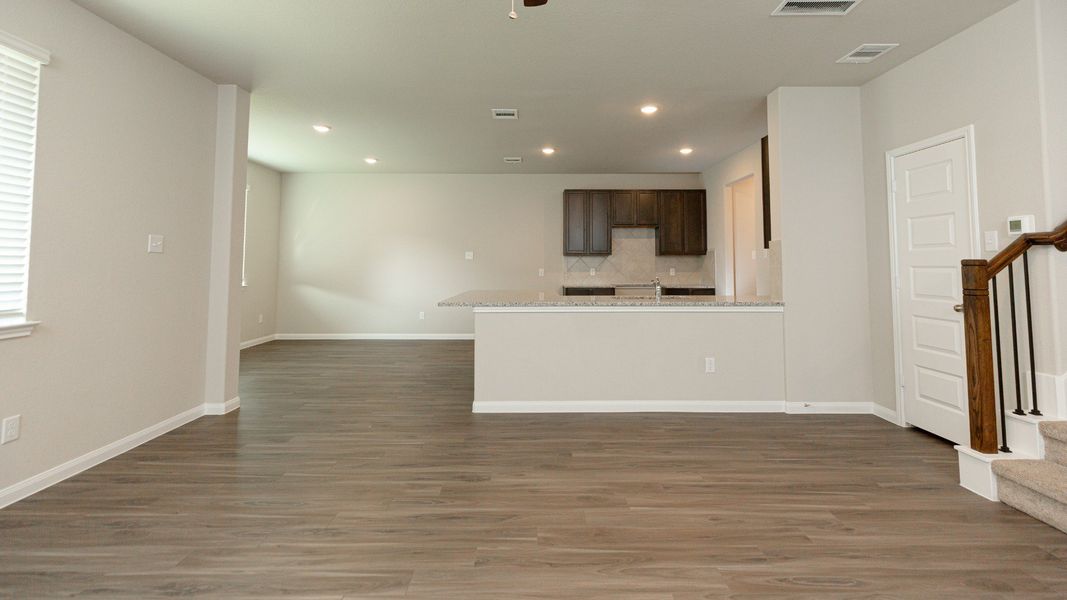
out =
[[[1039,425],[1044,460],[994,460],[1000,501],[1067,532],[1067,422]]]

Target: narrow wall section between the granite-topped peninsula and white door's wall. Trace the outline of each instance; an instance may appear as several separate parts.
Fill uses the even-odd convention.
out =
[[[787,400],[869,401],[859,89],[780,88],[767,106],[777,133],[770,185],[781,210],[775,237],[782,242]]]

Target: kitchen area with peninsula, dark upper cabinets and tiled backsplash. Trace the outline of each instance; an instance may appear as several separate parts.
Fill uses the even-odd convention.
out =
[[[715,294],[706,191],[566,190],[562,281],[475,317],[474,412],[781,412],[784,305]]]

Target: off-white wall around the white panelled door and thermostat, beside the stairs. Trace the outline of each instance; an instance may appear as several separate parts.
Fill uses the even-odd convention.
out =
[[[1047,104],[1046,114],[1057,120],[1054,126],[1050,121],[1046,128],[1041,120],[1035,0],[1008,6],[862,88],[874,390],[875,400],[886,407],[896,401],[886,153],[973,124],[982,231],[999,231],[1003,247],[1009,241],[1005,226],[1008,216],[1035,215],[1042,231],[1067,219],[1065,188],[1047,199],[1042,169],[1045,133],[1060,148],[1067,138],[1061,110],[1067,100],[1067,94],[1062,92],[1067,73],[1062,49],[1067,19],[1063,2],[1042,4],[1049,9],[1049,19],[1041,19],[1047,29],[1045,40],[1061,48],[1058,58],[1050,54],[1045,64],[1050,69],[1048,80],[1057,82],[1054,85],[1061,90],[1058,100]],[[1057,21],[1052,20],[1054,16],[1058,16]],[[1050,162],[1053,172],[1062,171],[1056,165],[1067,158],[1063,149],[1058,152],[1060,162]],[[989,252],[983,256],[991,255]],[[1035,251],[1035,270],[1048,273],[1049,256],[1049,251]],[[1054,336],[1040,332],[1055,329],[1050,309],[1055,303],[1047,277],[1035,278],[1034,283],[1037,342],[1042,346],[1037,357],[1038,370],[1054,370]],[[1063,309],[1060,312],[1063,314]],[[1058,337],[1067,340],[1062,326]],[[1058,368],[1067,370],[1067,365]]]

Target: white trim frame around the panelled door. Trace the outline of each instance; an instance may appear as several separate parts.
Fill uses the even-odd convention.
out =
[[[957,140],[964,141],[967,153],[967,176],[969,184],[969,200],[971,212],[971,255],[982,256],[981,226],[978,224],[978,170],[977,153],[975,151],[974,125],[968,125],[960,129],[947,131],[939,136],[934,136],[921,142],[901,146],[886,153],[886,194],[889,199],[889,259],[890,259],[890,290],[893,299],[893,372],[896,390],[896,419],[895,423],[901,427],[907,427],[907,415],[904,410],[904,356],[903,343],[901,342],[901,285],[899,285],[899,249],[896,244],[896,191],[893,189],[893,181],[896,180],[896,159],[940,146]],[[962,282],[960,282],[962,285]],[[965,414],[967,411],[964,411]]]

